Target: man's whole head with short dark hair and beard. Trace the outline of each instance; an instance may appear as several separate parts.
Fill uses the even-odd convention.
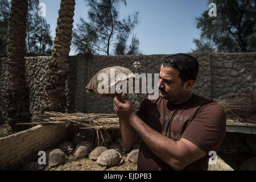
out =
[[[192,88],[198,69],[196,58],[184,53],[164,58],[159,74],[160,97],[179,103]]]

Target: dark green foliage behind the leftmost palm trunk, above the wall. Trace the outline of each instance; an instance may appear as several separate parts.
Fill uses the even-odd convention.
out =
[[[50,56],[52,38],[49,24],[38,15],[39,0],[28,1],[26,56]],[[0,57],[7,57],[10,3],[0,0]]]

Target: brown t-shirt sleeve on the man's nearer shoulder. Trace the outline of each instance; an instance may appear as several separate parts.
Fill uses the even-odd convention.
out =
[[[218,151],[225,134],[225,111],[215,102],[201,107],[181,138],[189,140],[208,154],[209,151]]]

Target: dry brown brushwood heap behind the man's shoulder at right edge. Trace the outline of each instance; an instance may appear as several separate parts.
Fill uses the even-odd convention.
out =
[[[227,94],[216,100],[226,113],[227,121],[256,123],[256,100],[253,92]]]

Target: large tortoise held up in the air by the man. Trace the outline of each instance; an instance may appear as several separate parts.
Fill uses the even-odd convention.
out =
[[[110,72],[114,70],[114,74],[110,74]],[[108,85],[106,85],[107,87],[104,88],[106,90],[108,90],[108,93],[99,93],[98,92],[98,85],[103,81],[102,80],[98,80],[98,76],[101,74],[101,73],[105,73],[106,75],[108,75]],[[121,79],[118,79],[117,78],[117,75],[119,73],[123,73],[124,75],[126,75],[126,78],[121,78]],[[114,78],[117,78],[117,79],[114,79]],[[101,69],[99,72],[96,73],[96,75],[94,75],[92,77],[92,79],[90,80],[89,84],[85,87],[86,88],[86,93],[89,94],[89,95],[92,95],[93,92],[97,93],[98,95],[100,95],[101,97],[119,97],[121,98],[121,93],[118,94],[116,91],[117,90],[114,90],[115,92],[114,93],[111,93],[110,91],[110,88],[114,85],[117,85],[119,82],[122,82],[123,84],[127,84],[127,91],[129,90],[129,78],[132,78],[132,79],[135,79],[138,81],[140,80],[137,76],[135,76],[133,74],[133,72],[130,71],[130,69],[127,69],[127,68],[123,68],[123,67],[108,67],[108,68],[104,68],[104,69]],[[114,81],[112,82],[111,80]],[[103,83],[101,83],[102,85],[104,85]]]

